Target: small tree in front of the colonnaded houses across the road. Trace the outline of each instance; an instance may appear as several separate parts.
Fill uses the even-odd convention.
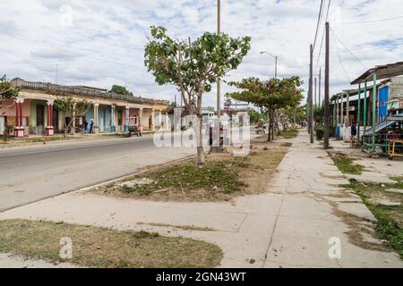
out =
[[[84,116],[90,109],[90,103],[85,99],[77,100],[73,97],[58,97],[55,100],[55,107],[57,110],[64,112],[66,115],[72,116],[72,120],[64,129],[64,137],[67,135],[67,131],[72,127],[73,122],[77,117]],[[72,130],[73,135],[75,130]]]

